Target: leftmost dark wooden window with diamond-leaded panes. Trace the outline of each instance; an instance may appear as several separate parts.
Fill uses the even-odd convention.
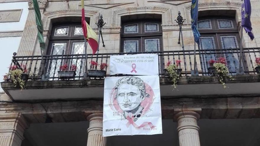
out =
[[[58,77],[59,67],[65,63],[69,66],[76,65],[76,76],[83,76],[85,59],[82,59],[82,55],[76,56],[85,54],[81,24],[53,26],[47,53],[53,55],[48,68],[50,77]],[[61,56],[67,54],[75,55],[74,59],[64,59]]]

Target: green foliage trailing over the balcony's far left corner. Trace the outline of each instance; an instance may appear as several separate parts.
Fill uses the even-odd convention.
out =
[[[22,80],[23,71],[20,69],[10,70],[8,75],[10,76],[11,81],[14,83],[14,87],[17,85],[23,89],[25,87],[25,81]]]

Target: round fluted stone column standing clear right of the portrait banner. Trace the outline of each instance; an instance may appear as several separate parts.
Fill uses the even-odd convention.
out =
[[[200,146],[197,125],[200,115],[195,111],[180,111],[174,117],[178,123],[180,146]]]

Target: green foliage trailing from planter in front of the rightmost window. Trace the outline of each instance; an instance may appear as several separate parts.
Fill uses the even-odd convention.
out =
[[[222,84],[223,88],[227,88],[225,85],[228,79],[231,79],[231,76],[228,75],[228,67],[222,63],[215,63],[215,76],[217,76],[218,81]]]

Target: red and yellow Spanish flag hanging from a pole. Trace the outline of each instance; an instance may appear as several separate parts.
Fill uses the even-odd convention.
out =
[[[85,20],[85,9],[84,9],[84,0],[81,0],[81,25],[84,37],[87,39],[93,54],[95,54],[98,50],[98,36],[94,32],[94,30],[87,24]]]

